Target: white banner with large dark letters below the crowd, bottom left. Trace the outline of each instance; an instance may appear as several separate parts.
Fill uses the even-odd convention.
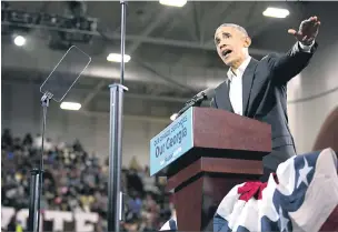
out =
[[[28,209],[16,212],[14,208],[1,208],[1,228],[7,229],[8,224],[16,216],[23,230],[28,226]],[[40,231],[96,231],[95,225],[99,222],[98,213],[67,212],[46,210],[41,213]]]

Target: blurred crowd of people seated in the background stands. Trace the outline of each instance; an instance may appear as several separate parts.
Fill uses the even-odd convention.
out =
[[[26,134],[13,138],[10,130],[1,137],[1,205],[16,210],[29,208],[30,171],[39,167],[42,138]],[[41,209],[71,212],[97,212],[100,223],[96,231],[107,230],[108,159],[86,152],[76,140],[72,144],[44,141],[44,173]],[[122,169],[121,188],[125,193],[125,231],[158,231],[171,216],[172,202],[165,192],[165,181],[149,176],[133,158]],[[11,220],[3,231],[16,231],[19,222]]]

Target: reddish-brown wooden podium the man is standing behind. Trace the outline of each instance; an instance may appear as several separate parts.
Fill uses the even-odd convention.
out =
[[[189,111],[180,118],[188,121],[188,134],[192,135],[186,142],[191,142],[191,148],[157,174],[166,175],[167,190],[175,191],[178,231],[212,231],[222,198],[236,184],[262,174],[261,160],[271,151],[271,129],[223,110]]]

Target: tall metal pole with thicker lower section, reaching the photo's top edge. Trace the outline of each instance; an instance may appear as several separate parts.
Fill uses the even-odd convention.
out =
[[[121,215],[121,160],[122,160],[122,113],[123,94],[128,89],[125,81],[126,7],[121,3],[121,79],[120,83],[110,84],[110,131],[109,131],[109,181],[108,181],[108,231],[119,232]]]

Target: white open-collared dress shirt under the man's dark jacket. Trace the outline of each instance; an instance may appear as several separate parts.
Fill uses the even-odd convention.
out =
[[[311,47],[315,44],[315,41],[310,46],[304,46],[301,43],[298,43],[300,49],[304,52],[310,52]],[[298,49],[298,44],[294,47],[295,49]],[[229,90],[229,99],[233,109],[233,112],[242,115],[243,109],[242,109],[242,75],[249,65],[251,61],[251,57],[248,56],[247,59],[240,64],[240,67],[237,70],[231,70],[231,68],[228,70],[228,87],[230,87]]]

